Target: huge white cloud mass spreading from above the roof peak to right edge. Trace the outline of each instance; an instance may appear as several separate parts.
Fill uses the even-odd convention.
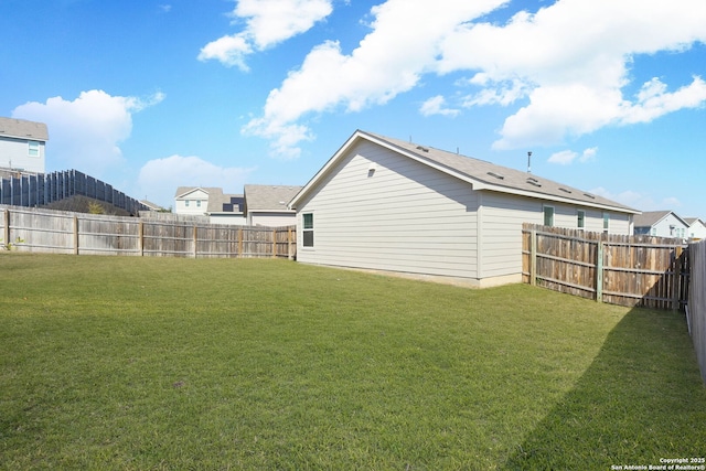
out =
[[[335,41],[314,47],[244,130],[276,140],[276,148],[285,149],[284,136],[297,146],[297,136],[312,138],[301,122],[308,115],[384,105],[419,86],[426,74],[469,73],[463,86],[477,89],[466,97],[467,107],[521,105],[500,129],[496,149],[556,144],[706,103],[699,77],[676,92],[662,77],[638,96],[624,95],[639,55],[680,53],[706,42],[703,0],[558,0],[505,23],[475,21],[509,3],[387,0],[375,6],[372,31],[351,54]]]

